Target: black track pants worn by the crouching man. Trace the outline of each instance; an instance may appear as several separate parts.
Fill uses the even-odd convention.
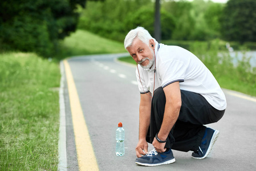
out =
[[[181,90],[181,109],[174,127],[170,131],[165,147],[188,152],[197,151],[204,136],[205,124],[216,123],[225,110],[218,111],[206,99],[194,92]],[[147,141],[152,143],[160,131],[165,109],[165,93],[162,87],[154,92],[151,105],[151,123]]]

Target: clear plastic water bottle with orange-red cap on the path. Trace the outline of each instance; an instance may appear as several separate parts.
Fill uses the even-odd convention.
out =
[[[116,156],[124,156],[124,128],[122,123],[118,123],[116,129]]]

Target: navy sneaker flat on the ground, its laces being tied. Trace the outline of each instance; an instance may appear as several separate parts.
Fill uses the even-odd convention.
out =
[[[172,149],[165,151],[163,153],[157,153],[154,148],[143,157],[136,158],[135,163],[143,166],[158,166],[171,164],[175,162],[175,158],[173,157]]]

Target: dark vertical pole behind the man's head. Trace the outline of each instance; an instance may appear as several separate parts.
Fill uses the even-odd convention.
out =
[[[156,0],[155,4],[155,39],[161,41],[161,22],[160,22],[160,0]]]

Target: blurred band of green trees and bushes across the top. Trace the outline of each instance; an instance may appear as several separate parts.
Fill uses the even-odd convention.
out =
[[[230,51],[255,50],[255,7],[254,0],[3,0],[0,50],[54,56],[62,50],[60,40],[78,29],[123,42],[137,26],[159,42],[188,49],[192,41],[219,39]]]

